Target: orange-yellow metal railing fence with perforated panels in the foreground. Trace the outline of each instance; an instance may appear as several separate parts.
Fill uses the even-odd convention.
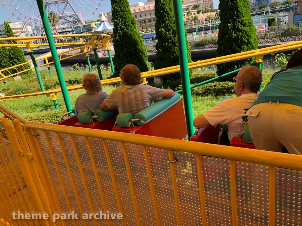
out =
[[[13,180],[31,179],[21,184],[36,189],[29,205],[21,199],[25,210],[14,193],[17,208],[1,200],[7,224],[301,225],[302,156],[35,122],[23,130],[18,120],[14,131],[7,119],[0,123],[8,141],[18,142],[8,151],[20,168]],[[18,208],[50,219],[13,221]],[[70,219],[53,222],[52,214]]]

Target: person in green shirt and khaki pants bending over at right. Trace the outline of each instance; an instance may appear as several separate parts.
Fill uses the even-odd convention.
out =
[[[302,155],[302,49],[276,72],[246,112],[256,149]]]

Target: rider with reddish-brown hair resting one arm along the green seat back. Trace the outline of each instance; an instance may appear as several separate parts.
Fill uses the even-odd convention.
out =
[[[120,79],[123,86],[112,91],[102,102],[101,109],[107,111],[118,109],[119,113],[135,115],[150,106],[150,101],[159,101],[163,97],[171,98],[175,94],[170,89],[159,89],[142,84],[140,69],[133,64],[127,64],[120,71]]]

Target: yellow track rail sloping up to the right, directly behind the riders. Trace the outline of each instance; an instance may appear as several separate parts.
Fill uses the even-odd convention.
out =
[[[256,50],[251,50],[248,52],[241,52],[241,53],[236,53],[236,54],[232,54],[232,55],[211,58],[208,60],[196,61],[196,62],[189,63],[188,65],[189,65],[189,69],[194,69],[194,68],[199,68],[199,67],[210,66],[213,64],[222,64],[222,63],[226,63],[226,62],[230,62],[230,61],[237,61],[237,60],[242,60],[242,59],[252,58],[252,57],[257,57],[258,62],[261,62],[261,59],[264,57],[264,55],[268,55],[268,54],[273,55],[278,52],[294,50],[294,49],[298,49],[301,47],[302,47],[302,41],[291,42],[291,43],[277,45],[277,46],[271,46],[271,47],[267,47],[267,48],[263,48],[263,49],[256,49]],[[179,71],[180,71],[180,67],[179,67],[179,65],[177,65],[177,66],[173,66],[173,67],[165,67],[165,68],[154,70],[154,71],[146,71],[146,72],[141,73],[141,76],[142,76],[142,80],[144,80],[149,77],[155,77],[155,76],[175,73],[175,72],[179,72]],[[2,80],[2,79],[0,79],[0,80]],[[101,81],[102,85],[109,85],[109,84],[120,83],[120,82],[121,82],[120,77],[106,79],[106,80]],[[82,88],[83,88],[82,84],[67,87],[68,91],[82,89]],[[48,90],[45,92],[29,93],[29,94],[15,95],[15,96],[3,96],[3,97],[0,97],[0,101],[21,99],[21,98],[32,97],[32,96],[41,96],[41,95],[52,96],[52,95],[56,95],[58,93],[61,93],[61,89],[53,89],[53,90]]]

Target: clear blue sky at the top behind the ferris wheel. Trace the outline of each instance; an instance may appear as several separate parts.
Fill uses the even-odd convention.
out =
[[[17,17],[19,16],[20,13],[18,13],[17,11],[14,12],[14,8],[10,7],[9,11],[7,11],[7,8],[9,7],[9,3],[7,2],[9,1],[10,3],[13,3],[14,0],[2,0],[1,1],[1,5],[0,5],[0,24],[3,23],[4,20],[8,20],[10,19],[13,22],[17,22],[20,21],[22,22],[24,20],[24,16],[20,16],[20,20],[17,20]],[[17,0],[16,3],[14,3],[14,7],[18,7],[19,4],[20,7],[18,8],[19,11],[21,11],[22,9],[24,9],[23,13],[26,14],[26,12],[28,11],[29,5],[35,0]],[[139,0],[130,0],[129,2],[138,2]],[[178,0],[180,1],[180,0]],[[29,2],[29,4],[27,4],[27,7],[25,7],[25,4]],[[97,15],[101,12],[107,12],[107,11],[111,11],[111,7],[110,7],[110,0],[71,0],[71,2],[75,2],[75,4],[77,4],[76,2],[85,2],[87,3],[87,5],[89,5],[88,2],[95,2],[92,6],[92,10],[88,11],[88,13],[84,16],[85,19],[89,20],[88,16],[91,16],[91,19],[96,19]],[[147,2],[147,0],[141,0],[140,2]],[[2,3],[5,4],[5,7],[2,7]],[[101,3],[101,6],[98,5],[98,3]],[[218,8],[218,4],[219,4],[219,0],[214,0],[214,8],[217,9]],[[82,5],[82,3],[81,3]],[[81,5],[77,5],[80,10],[81,9]],[[91,6],[91,4],[90,4]],[[98,8],[98,11],[95,10],[95,8]],[[82,10],[83,11],[83,10]],[[92,11],[95,12],[95,15],[92,14]],[[12,16],[12,13],[14,13],[15,15]]]

